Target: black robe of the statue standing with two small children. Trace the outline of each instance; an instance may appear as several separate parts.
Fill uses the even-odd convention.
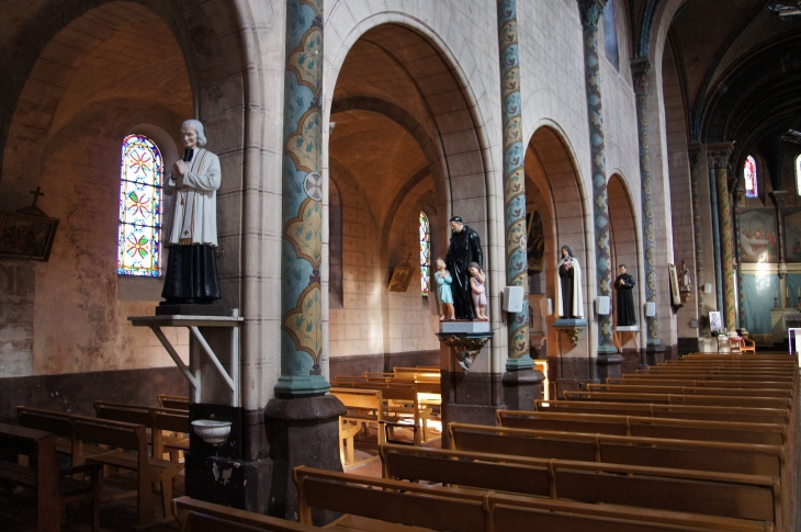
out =
[[[471,262],[484,268],[478,234],[465,225],[461,231],[451,233],[451,244],[445,256],[445,267],[453,278],[453,310],[456,319],[475,319],[467,271],[467,264]]]

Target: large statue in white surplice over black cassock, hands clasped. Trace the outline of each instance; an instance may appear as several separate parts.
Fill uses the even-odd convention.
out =
[[[166,308],[161,307],[180,308],[176,314],[181,314],[187,312],[187,305],[210,305],[221,298],[215,254],[217,190],[222,179],[219,158],[203,148],[206,136],[200,121],[183,123],[181,142],[185,148],[183,158],[172,165],[169,180],[176,190],[161,291],[166,301],[160,303],[157,314],[165,314]]]

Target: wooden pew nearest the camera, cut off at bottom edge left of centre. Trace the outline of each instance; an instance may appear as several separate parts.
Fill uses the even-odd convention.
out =
[[[317,527],[301,524],[285,519],[263,516],[228,506],[179,497],[172,501],[172,513],[181,532],[313,532]],[[340,529],[340,532],[345,532]]]

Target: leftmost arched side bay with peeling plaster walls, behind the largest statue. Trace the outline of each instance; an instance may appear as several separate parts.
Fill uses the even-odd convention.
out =
[[[185,19],[188,12],[199,16]],[[0,18],[14,15],[19,11]],[[36,285],[43,293],[60,286],[60,303],[76,307],[61,314],[86,318],[79,327],[75,319],[53,320],[47,297],[37,298],[34,320],[52,326],[34,327],[27,374],[172,365],[128,330],[127,315],[151,308],[121,295],[116,269],[106,264],[116,249],[115,231],[105,229],[116,225],[120,143],[143,124],[177,137],[182,120],[198,116],[213,132],[208,147],[221,156],[226,177],[221,203],[239,203],[219,220],[221,248],[228,250],[219,264],[223,292],[227,306],[240,306],[235,257],[241,247],[246,80],[237,15],[222,0],[34,0],[7,25],[14,30],[0,37],[0,61],[10,73],[0,81],[7,94],[0,104],[0,207],[24,205],[26,191],[37,185],[50,191],[41,205],[61,224]],[[102,225],[101,238],[86,220]],[[92,268],[103,271],[92,279]],[[58,299],[56,293],[50,298]]]

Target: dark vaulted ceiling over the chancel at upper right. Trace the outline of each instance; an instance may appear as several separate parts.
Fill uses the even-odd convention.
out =
[[[647,54],[669,2],[676,0],[630,0],[635,56]],[[688,138],[734,142],[740,158],[756,149],[778,166],[779,135],[801,128],[801,18],[779,20],[769,0],[679,3],[665,53],[676,59]]]

